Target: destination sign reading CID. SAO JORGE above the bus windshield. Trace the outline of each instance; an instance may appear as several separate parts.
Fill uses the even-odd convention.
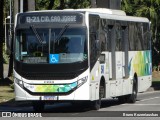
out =
[[[23,15],[20,17],[21,24],[29,23],[82,23],[81,14],[51,14],[51,15]]]

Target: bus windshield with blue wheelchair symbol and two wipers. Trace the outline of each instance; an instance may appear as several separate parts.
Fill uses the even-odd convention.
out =
[[[85,28],[36,28],[17,30],[15,59],[24,63],[73,63],[87,60]]]

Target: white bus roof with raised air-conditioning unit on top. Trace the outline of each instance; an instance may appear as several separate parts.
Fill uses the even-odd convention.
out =
[[[149,22],[147,18],[127,16],[126,13],[122,10],[113,10],[113,9],[107,9],[107,8],[41,10],[41,11],[29,11],[27,13],[44,13],[44,12],[88,12],[89,14],[99,15],[100,18],[104,18],[104,19],[135,21],[135,22]]]

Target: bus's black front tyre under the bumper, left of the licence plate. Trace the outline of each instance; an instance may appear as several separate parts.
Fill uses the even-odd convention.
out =
[[[43,112],[44,107],[45,107],[45,103],[42,101],[33,101],[32,106],[33,106],[33,110],[35,112]]]

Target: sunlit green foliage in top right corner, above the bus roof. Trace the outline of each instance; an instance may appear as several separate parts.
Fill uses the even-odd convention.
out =
[[[152,27],[158,26],[160,0],[123,0],[122,10],[134,16],[147,17]],[[159,27],[159,26],[158,26]],[[153,30],[153,29],[152,29]],[[154,32],[155,30],[153,30]]]

